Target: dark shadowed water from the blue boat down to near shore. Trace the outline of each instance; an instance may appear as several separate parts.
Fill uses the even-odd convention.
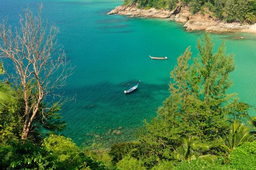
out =
[[[156,116],[162,104],[159,98],[164,101],[169,95],[167,85],[143,82],[135,91],[124,93],[137,83],[137,80],[130,80],[67,88],[70,95],[79,93],[75,102],[63,106],[62,115],[68,124],[65,134],[79,145],[91,144],[93,140],[110,144],[134,139],[134,132],[142,126],[143,119]],[[124,129],[116,130],[120,126]]]

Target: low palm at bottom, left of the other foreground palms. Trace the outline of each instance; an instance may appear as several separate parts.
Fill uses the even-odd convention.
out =
[[[175,159],[191,161],[197,158],[202,158],[208,162],[214,162],[217,158],[215,155],[203,154],[209,150],[207,144],[201,143],[197,136],[190,136],[189,138],[183,138],[183,143],[175,151]]]

